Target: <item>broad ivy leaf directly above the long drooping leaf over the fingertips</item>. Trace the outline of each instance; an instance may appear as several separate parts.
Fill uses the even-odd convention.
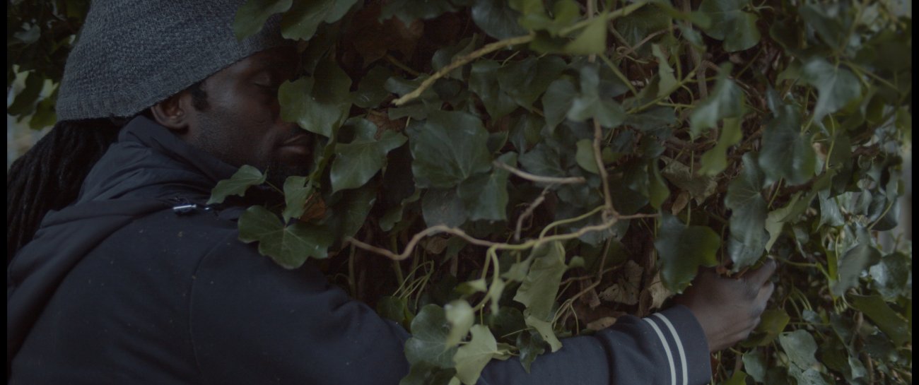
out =
[[[790,185],[800,185],[813,176],[816,154],[810,136],[800,128],[800,113],[789,105],[779,108],[775,119],[766,124],[759,154],[759,166],[766,172],[766,184],[785,178]]]

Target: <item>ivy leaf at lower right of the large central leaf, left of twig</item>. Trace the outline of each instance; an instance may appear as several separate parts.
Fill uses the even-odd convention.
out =
[[[505,153],[497,162],[516,165],[516,153]],[[510,172],[494,168],[491,173],[472,176],[457,187],[457,195],[472,221],[505,221],[507,219],[507,177]]]

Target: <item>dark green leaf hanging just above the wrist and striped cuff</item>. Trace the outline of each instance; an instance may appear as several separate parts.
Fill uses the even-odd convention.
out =
[[[720,237],[706,226],[686,226],[667,212],[661,213],[660,222],[654,248],[661,258],[661,278],[667,289],[680,293],[696,277],[698,266],[718,265]]]

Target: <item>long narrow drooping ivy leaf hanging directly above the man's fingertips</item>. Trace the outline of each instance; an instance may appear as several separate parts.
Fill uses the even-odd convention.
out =
[[[752,266],[766,251],[766,200],[760,194],[763,172],[752,153],[743,154],[741,175],[728,185],[724,206],[732,210],[728,254],[733,271]]]

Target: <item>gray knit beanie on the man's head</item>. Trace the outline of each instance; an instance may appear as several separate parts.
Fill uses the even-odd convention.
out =
[[[93,1],[58,91],[59,120],[129,117],[258,51],[291,44],[279,15],[243,41],[244,0]]]

